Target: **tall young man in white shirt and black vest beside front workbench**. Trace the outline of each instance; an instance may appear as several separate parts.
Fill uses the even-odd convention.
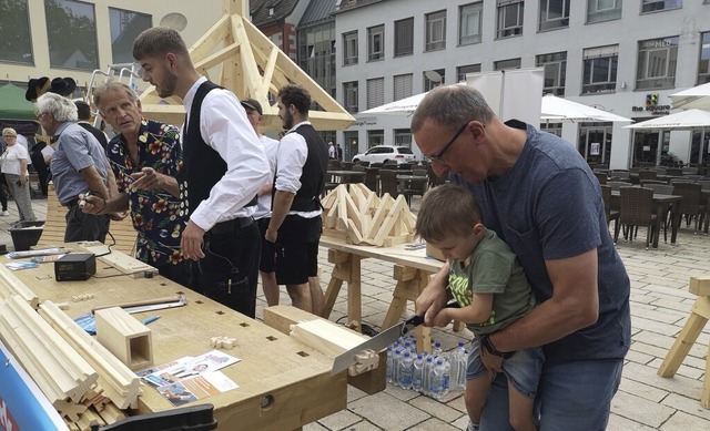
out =
[[[268,181],[264,148],[234,93],[197,73],[178,31],[143,31],[133,57],[143,81],[161,98],[179,96],[185,107],[178,184],[181,216],[189,222],[180,246],[185,258],[197,260],[192,287],[255,317],[261,240],[252,215]]]

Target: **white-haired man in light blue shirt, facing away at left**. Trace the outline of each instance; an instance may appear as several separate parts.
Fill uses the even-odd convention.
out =
[[[37,120],[54,140],[51,171],[57,198],[69,208],[64,242],[104,242],[109,232],[108,214],[85,214],[79,208],[79,195],[91,192],[109,198],[109,161],[101,144],[87,130],[77,124],[77,105],[54,93],[44,93],[37,100]],[[115,182],[113,182],[115,187]]]

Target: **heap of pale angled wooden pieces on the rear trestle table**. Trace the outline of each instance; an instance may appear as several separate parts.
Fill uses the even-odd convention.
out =
[[[325,236],[377,247],[414,240],[416,215],[403,195],[378,197],[364,184],[341,184],[323,198],[323,208]]]

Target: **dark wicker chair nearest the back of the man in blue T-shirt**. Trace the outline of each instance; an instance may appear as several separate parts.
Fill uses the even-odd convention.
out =
[[[633,240],[638,226],[647,226],[646,249],[648,249],[656,232],[656,211],[653,208],[653,191],[645,187],[621,187],[619,189],[620,216],[619,223],[625,225],[623,239]],[[619,238],[619,230],[613,235],[615,243]]]

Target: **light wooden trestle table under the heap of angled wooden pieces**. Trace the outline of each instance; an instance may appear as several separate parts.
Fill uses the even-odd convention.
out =
[[[407,301],[414,301],[429,283],[430,276],[444,266],[443,261],[428,258],[424,248],[407,250],[404,244],[392,247],[363,246],[347,244],[344,239],[324,235],[321,236],[321,245],[328,248],[328,260],[334,264],[331,281],[325,293],[323,311],[325,318],[333,311],[343,283],[347,283],[348,321],[361,322],[361,260],[376,258],[395,264],[393,278],[396,280],[396,285],[382,329],[387,329],[399,321],[407,307]],[[455,329],[459,328],[459,324],[455,325]],[[430,352],[429,328],[418,327],[416,337],[417,349]]]

